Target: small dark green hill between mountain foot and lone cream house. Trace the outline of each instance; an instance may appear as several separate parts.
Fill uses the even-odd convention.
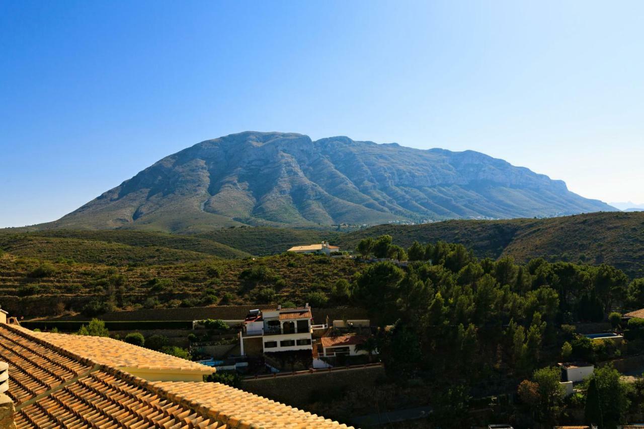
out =
[[[197,235],[260,256],[282,253],[296,245],[335,243],[339,236],[336,231],[271,227],[225,228]]]

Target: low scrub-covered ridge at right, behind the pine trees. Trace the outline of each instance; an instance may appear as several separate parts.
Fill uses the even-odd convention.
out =
[[[631,277],[644,276],[644,212],[589,213],[549,219],[448,220],[423,225],[379,225],[339,237],[353,249],[367,236],[390,234],[404,247],[419,242],[462,243],[480,258],[513,256],[517,262],[608,263]]]

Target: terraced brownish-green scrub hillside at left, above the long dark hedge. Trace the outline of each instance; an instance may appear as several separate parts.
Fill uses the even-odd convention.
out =
[[[334,285],[352,280],[362,266],[350,259],[299,254],[109,266],[3,253],[0,303],[22,316],[286,301],[341,305],[346,303],[343,295],[335,301],[328,298]]]

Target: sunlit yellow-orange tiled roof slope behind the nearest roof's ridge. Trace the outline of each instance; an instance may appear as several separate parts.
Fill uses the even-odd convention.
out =
[[[138,370],[151,371],[198,372],[204,375],[214,372],[214,368],[206,367],[200,363],[155,352],[149,348],[138,347],[113,338],[48,332],[32,332],[32,335],[78,356],[91,359],[100,365],[123,370],[137,368]]]

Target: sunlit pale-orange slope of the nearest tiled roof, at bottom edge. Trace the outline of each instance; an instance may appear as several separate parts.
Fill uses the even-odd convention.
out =
[[[346,428],[345,424],[310,414],[297,408],[249,394],[221,383],[157,382],[160,392],[181,403],[198,401],[209,415],[225,414],[235,422],[256,424],[261,428]],[[229,421],[230,422],[230,421]],[[235,427],[235,426],[233,426]]]

